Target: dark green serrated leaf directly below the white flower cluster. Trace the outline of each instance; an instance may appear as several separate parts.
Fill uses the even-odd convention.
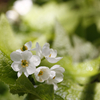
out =
[[[13,94],[31,94],[41,100],[53,100],[53,86],[41,84],[34,88],[34,85],[29,81],[24,74],[16,81],[15,85],[10,86],[10,92]]]

